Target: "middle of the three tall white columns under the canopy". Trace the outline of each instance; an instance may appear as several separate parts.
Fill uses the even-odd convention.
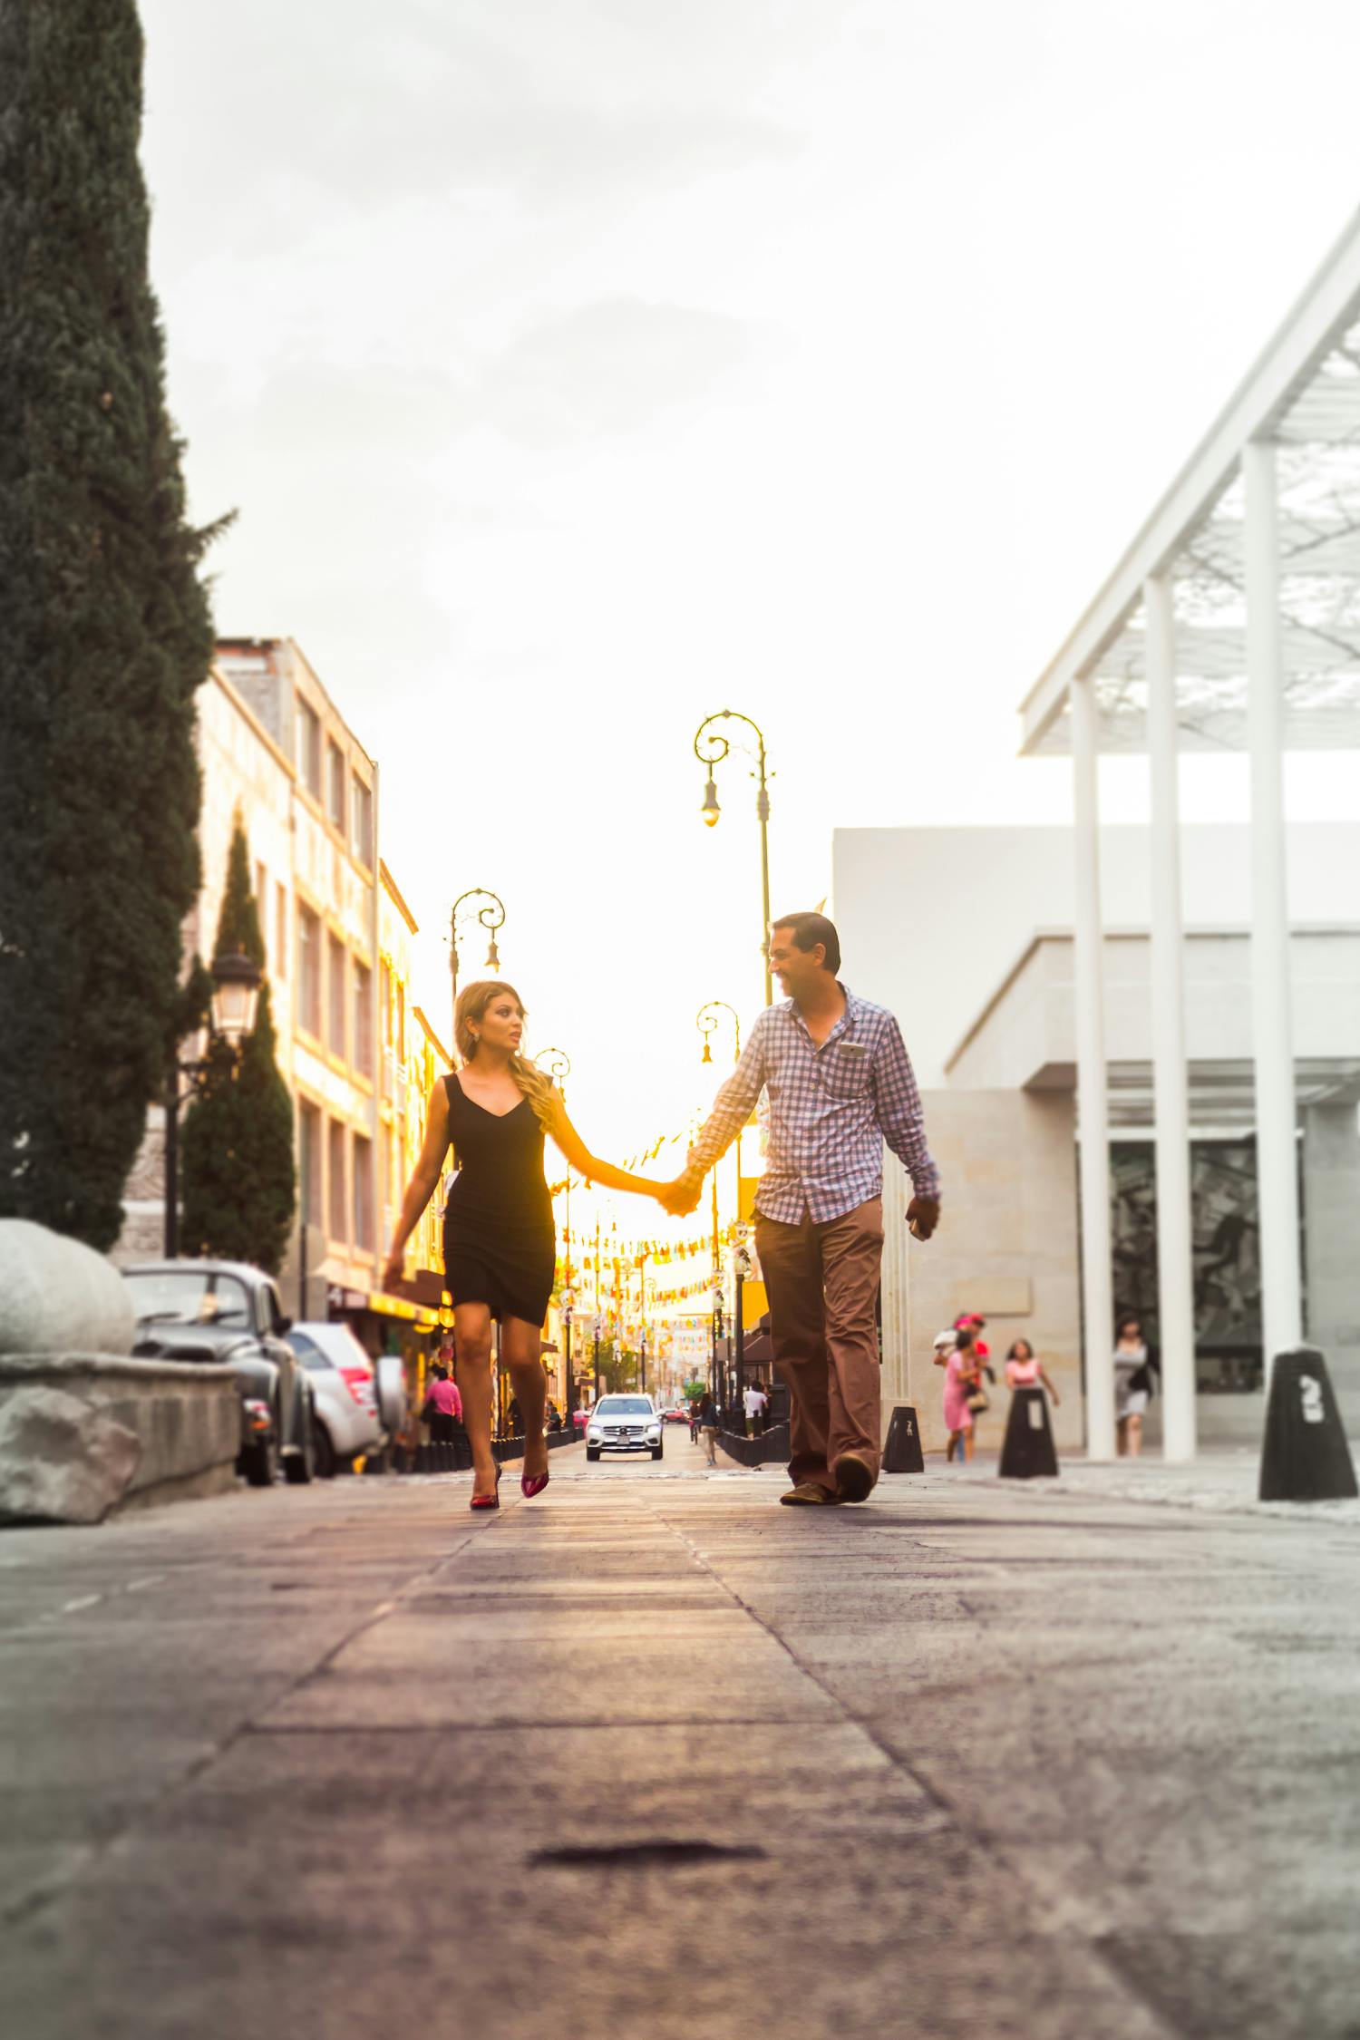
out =
[[[1176,755],[1176,630],[1170,581],[1144,585],[1152,765],[1152,1100],[1156,1267],[1162,1334],[1162,1457],[1195,1457],[1195,1259],[1185,1067],[1185,932]]]

